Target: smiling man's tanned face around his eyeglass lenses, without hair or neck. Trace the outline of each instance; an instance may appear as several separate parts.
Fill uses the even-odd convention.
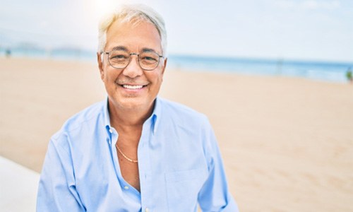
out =
[[[107,31],[104,52],[124,48],[127,52],[138,54],[144,49],[152,49],[162,55],[160,43],[160,35],[152,23],[143,21],[133,25],[114,22]],[[157,68],[152,71],[141,69],[136,55],[131,55],[131,61],[124,69],[110,66],[107,54],[104,54],[103,61],[98,57],[98,64],[111,106],[121,110],[151,109],[162,84],[167,59],[161,58]]]

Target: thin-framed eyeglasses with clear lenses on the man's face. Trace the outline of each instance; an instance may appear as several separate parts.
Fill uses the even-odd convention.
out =
[[[131,61],[131,55],[136,55],[138,58],[138,65],[145,71],[152,71],[160,64],[160,58],[163,57],[157,52],[145,51],[136,53],[129,53],[125,50],[112,50],[104,52],[108,54],[109,64],[115,69],[124,69]]]

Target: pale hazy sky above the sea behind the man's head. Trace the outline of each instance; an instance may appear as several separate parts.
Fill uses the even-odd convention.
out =
[[[0,47],[95,50],[100,17],[126,2],[164,17],[169,54],[353,61],[352,0],[0,0]]]

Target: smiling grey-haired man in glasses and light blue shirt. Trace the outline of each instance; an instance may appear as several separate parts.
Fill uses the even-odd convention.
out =
[[[37,211],[238,211],[208,119],[157,98],[165,52],[151,8],[123,6],[102,21],[107,100],[52,136]]]

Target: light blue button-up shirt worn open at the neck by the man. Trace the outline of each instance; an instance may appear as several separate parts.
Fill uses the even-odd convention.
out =
[[[140,192],[121,175],[107,100],[49,142],[37,211],[238,211],[207,117],[156,98],[138,143]]]

